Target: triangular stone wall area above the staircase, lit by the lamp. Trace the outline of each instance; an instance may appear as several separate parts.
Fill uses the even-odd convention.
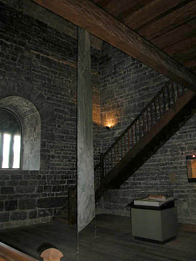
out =
[[[100,73],[102,149],[105,152],[168,79],[106,42]],[[108,131],[105,126],[110,124]]]

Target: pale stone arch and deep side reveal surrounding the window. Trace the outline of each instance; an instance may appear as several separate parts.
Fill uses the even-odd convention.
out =
[[[20,168],[40,169],[41,119],[37,108],[27,99],[8,96],[0,100],[0,109],[15,114],[21,123]]]

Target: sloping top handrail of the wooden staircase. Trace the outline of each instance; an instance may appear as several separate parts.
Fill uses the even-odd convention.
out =
[[[152,105],[152,103],[158,98],[158,96],[163,92],[163,90],[169,86],[169,84],[172,83],[171,80],[169,80],[160,90],[159,92],[151,99],[151,101],[146,105],[142,111],[136,116],[136,118],[129,124],[129,126],[125,129],[125,131],[122,132],[122,134],[114,141],[114,143],[106,150],[105,153],[103,153],[103,156],[105,156],[116,144],[117,142],[127,133],[127,131],[135,124],[135,122],[139,119],[139,117],[142,116],[142,114]]]

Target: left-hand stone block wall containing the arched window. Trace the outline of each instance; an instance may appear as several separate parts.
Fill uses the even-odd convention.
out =
[[[0,100],[22,97],[41,118],[40,169],[0,170],[4,228],[49,221],[66,203],[68,187],[76,185],[77,38],[2,2],[0,10]],[[91,56],[93,107],[100,110],[100,50],[92,47]],[[98,118],[95,159],[101,151],[99,129]]]

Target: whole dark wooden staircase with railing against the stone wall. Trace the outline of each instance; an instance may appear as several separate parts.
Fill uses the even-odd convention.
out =
[[[169,81],[133,120],[94,169],[95,200],[117,189],[196,112],[195,92]]]

